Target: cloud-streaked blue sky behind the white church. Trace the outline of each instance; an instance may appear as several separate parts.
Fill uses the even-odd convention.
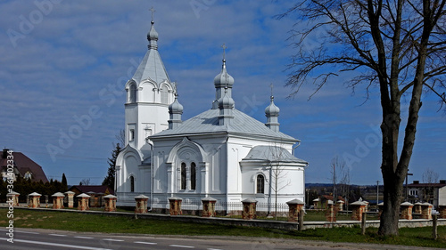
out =
[[[38,3],[38,4],[36,4]],[[293,99],[285,87],[295,52],[292,18],[276,20],[292,1],[2,1],[0,4],[0,146],[42,165],[48,178],[69,184],[107,172],[115,135],[124,127],[124,85],[147,50],[153,6],[159,51],[178,83],[183,119],[211,108],[213,78],[227,45],[227,71],[235,78],[237,109],[266,122],[270,89],[281,109],[281,131],[301,140],[296,157],[310,162],[307,182],[329,182],[335,156],[347,161],[351,182],[374,184],[380,172],[380,105],[377,89],[365,101],[333,78],[310,101],[305,85]],[[308,48],[318,44],[310,39]],[[426,167],[446,179],[446,117],[424,95],[409,181]],[[403,103],[407,117],[409,99]],[[78,120],[83,121],[79,125]],[[91,120],[91,122],[90,122]],[[78,128],[81,128],[78,130]],[[70,140],[66,135],[71,134]],[[61,149],[50,153],[48,148]]]

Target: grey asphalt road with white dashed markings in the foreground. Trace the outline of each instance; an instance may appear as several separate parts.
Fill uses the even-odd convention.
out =
[[[366,246],[285,239],[206,238],[80,233],[60,230],[14,229],[13,243],[7,241],[6,229],[0,229],[0,249],[205,249],[205,250],[269,250],[269,249],[415,249],[407,246]]]

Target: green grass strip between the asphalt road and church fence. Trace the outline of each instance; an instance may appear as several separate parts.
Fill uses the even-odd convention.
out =
[[[7,209],[0,209],[0,227],[8,226]],[[3,219],[2,219],[3,218]],[[446,248],[446,227],[438,227],[439,238],[432,239],[432,228],[401,229],[400,236],[378,237],[369,228],[365,236],[360,228],[335,228],[303,231],[268,230],[236,226],[129,219],[99,214],[61,213],[54,211],[14,210],[15,228],[72,230],[82,232],[139,233],[154,235],[218,235],[267,238],[294,238],[332,242],[376,243]]]

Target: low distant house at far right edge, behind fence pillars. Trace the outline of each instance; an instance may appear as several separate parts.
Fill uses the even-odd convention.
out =
[[[440,180],[439,183],[413,181],[408,185],[408,201],[412,204],[428,202],[435,207],[446,205],[446,180]]]

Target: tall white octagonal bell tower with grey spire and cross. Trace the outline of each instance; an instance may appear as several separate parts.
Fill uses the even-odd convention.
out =
[[[170,82],[158,52],[158,32],[153,21],[147,34],[148,51],[126,84],[126,145],[141,149],[146,138],[168,129],[169,105],[175,100],[176,84]]]

